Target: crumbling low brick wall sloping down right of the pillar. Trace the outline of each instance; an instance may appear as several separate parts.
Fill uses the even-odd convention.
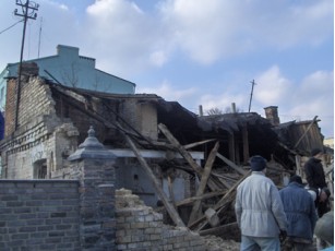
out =
[[[213,241],[207,241],[206,237],[201,237],[188,228],[163,224],[163,215],[146,206],[130,190],[117,190],[116,202],[116,243],[120,251],[225,250],[223,246],[210,243]]]

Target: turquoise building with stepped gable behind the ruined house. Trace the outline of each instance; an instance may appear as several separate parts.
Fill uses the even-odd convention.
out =
[[[35,62],[39,75],[65,86],[115,94],[134,94],[135,84],[95,68],[94,58],[80,56],[76,47],[58,45],[57,55],[26,60]],[[0,109],[3,111],[7,80],[17,76],[19,63],[9,63],[0,73]]]

